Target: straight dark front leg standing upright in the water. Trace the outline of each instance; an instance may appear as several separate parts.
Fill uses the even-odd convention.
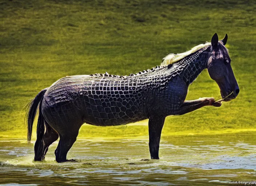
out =
[[[148,121],[149,133],[149,151],[151,159],[159,159],[159,143],[162,128],[164,125],[164,116],[152,116]]]

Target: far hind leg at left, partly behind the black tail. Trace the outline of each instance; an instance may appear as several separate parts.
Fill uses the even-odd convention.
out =
[[[49,145],[55,142],[59,135],[58,133],[51,128],[51,126],[44,121],[44,126],[41,127],[40,132],[37,133],[37,139],[35,143],[35,161],[42,161],[44,160],[45,154],[47,153]],[[44,127],[46,128],[44,133]]]

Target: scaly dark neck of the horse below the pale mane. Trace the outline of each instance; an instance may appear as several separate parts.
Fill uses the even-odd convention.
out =
[[[188,86],[207,67],[207,61],[208,52],[205,49],[201,49],[173,63],[172,66],[177,72],[180,72],[180,77]]]

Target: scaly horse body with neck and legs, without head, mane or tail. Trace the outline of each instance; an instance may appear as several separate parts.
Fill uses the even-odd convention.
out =
[[[59,134],[56,161],[68,161],[67,152],[85,122],[112,126],[147,118],[151,158],[159,159],[161,129],[166,116],[185,114],[202,106],[221,105],[213,98],[184,101],[188,85],[207,67],[209,53],[205,47],[174,64],[156,66],[129,76],[105,73],[68,76],[56,81],[41,102],[45,125],[54,129],[55,132],[51,131],[54,137],[49,138],[46,132],[48,138],[37,139],[35,160],[44,158],[49,144]]]

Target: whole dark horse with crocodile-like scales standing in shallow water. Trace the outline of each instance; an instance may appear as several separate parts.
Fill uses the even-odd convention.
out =
[[[125,125],[149,119],[149,151],[159,159],[159,142],[166,116],[181,115],[203,106],[221,106],[214,98],[185,101],[188,86],[208,69],[217,82],[223,101],[237,96],[239,87],[223,40],[213,35],[211,43],[188,52],[169,54],[161,66],[129,76],[91,74],[68,76],[41,90],[27,110],[28,142],[39,107],[35,161],[44,159],[49,145],[59,137],[56,161],[67,160],[84,123],[97,126]]]

